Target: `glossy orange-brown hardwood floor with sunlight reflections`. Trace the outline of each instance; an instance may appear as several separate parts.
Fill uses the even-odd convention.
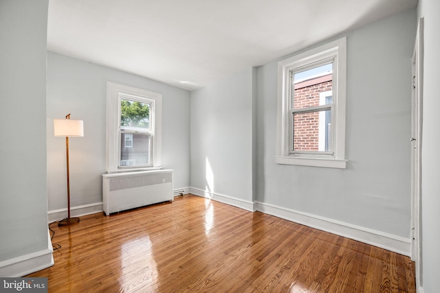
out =
[[[415,292],[408,257],[198,196],[58,228],[49,292]]]

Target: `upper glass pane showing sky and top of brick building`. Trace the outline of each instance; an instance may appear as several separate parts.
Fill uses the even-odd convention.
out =
[[[332,90],[333,63],[295,73],[292,82],[294,108],[325,105],[325,101],[320,101],[320,93]]]

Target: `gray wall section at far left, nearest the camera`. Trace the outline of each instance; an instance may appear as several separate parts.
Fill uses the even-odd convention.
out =
[[[43,1],[0,1],[0,261],[48,248]]]

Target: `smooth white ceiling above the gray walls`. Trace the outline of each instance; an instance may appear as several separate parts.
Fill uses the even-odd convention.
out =
[[[50,0],[47,49],[198,89],[417,0]]]

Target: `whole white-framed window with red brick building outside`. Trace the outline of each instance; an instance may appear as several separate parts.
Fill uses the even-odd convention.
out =
[[[344,169],[346,38],[278,62],[278,164]]]

